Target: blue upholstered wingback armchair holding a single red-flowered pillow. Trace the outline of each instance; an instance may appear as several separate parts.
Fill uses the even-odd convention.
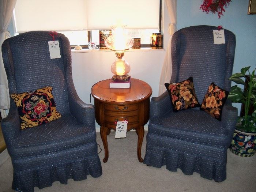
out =
[[[94,106],[78,97],[71,71],[71,47],[68,38],[57,33],[60,58],[50,59],[48,31],[31,31],[6,39],[2,45],[9,91],[24,93],[52,87],[59,119],[37,127],[20,129],[20,117],[10,101],[7,118],[1,127],[14,168],[12,189],[32,192],[54,181],[67,184],[99,177],[101,162],[97,153]]]

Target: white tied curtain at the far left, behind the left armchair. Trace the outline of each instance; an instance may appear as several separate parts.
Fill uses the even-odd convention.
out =
[[[7,31],[9,23],[12,18],[12,11],[14,9],[16,0],[0,0],[0,46],[4,40],[11,37]],[[0,109],[1,115],[6,116],[5,110],[10,108],[10,98],[8,81],[4,70],[4,63],[2,57],[2,50],[0,49]]]

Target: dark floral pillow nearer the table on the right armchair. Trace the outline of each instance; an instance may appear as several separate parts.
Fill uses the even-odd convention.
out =
[[[200,107],[196,98],[192,77],[180,83],[165,83],[165,87],[170,94],[174,112]]]

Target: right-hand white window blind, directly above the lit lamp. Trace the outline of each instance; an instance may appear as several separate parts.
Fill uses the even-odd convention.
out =
[[[87,0],[88,29],[159,29],[159,0]]]

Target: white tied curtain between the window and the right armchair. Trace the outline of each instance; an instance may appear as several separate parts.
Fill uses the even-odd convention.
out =
[[[169,18],[170,18],[170,25],[168,29],[170,39],[166,49],[165,59],[163,61],[163,68],[160,76],[159,92],[158,92],[159,95],[163,94],[166,91],[165,83],[170,83],[170,79],[172,76],[171,40],[172,40],[173,33],[177,31],[177,27],[176,27],[177,0],[165,0],[165,4],[167,6]]]

